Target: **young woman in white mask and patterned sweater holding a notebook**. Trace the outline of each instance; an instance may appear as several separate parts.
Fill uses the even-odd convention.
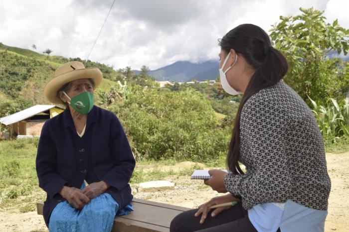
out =
[[[243,97],[227,156],[230,173],[210,170],[205,184],[229,193],[175,217],[171,232],[324,231],[331,182],[323,138],[309,107],[282,80],[285,57],[252,24],[229,31],[220,46],[222,87]],[[232,201],[238,204],[208,209]]]

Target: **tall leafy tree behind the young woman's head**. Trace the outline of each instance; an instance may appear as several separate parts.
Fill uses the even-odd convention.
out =
[[[324,11],[300,8],[302,14],[280,16],[271,29],[275,48],[286,56],[289,71],[285,81],[309,104],[312,98],[324,103],[328,98],[344,99],[349,78],[345,63],[335,58],[348,52],[349,30],[336,19],[326,22]]]

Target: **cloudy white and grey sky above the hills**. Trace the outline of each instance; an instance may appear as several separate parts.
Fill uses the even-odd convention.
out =
[[[85,59],[114,0],[1,0],[0,42]],[[265,30],[299,7],[349,28],[349,0],[116,0],[90,60],[152,70],[218,59],[217,39],[242,23]]]

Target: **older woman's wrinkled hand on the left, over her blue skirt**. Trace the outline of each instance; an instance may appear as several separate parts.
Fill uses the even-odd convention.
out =
[[[86,204],[90,202],[90,199],[82,193],[80,189],[75,187],[63,186],[59,194],[67,200],[67,202],[75,209],[81,210]]]

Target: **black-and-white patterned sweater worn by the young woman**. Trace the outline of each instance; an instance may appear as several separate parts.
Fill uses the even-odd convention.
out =
[[[240,118],[240,159],[245,175],[224,185],[246,210],[288,199],[327,210],[331,189],[323,138],[312,111],[283,80],[254,94]]]

